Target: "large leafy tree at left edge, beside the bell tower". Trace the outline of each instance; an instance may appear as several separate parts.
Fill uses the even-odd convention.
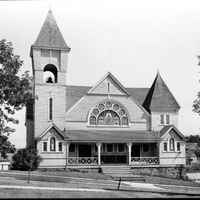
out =
[[[14,145],[8,141],[8,136],[15,130],[8,123],[18,124],[12,116],[16,111],[34,102],[32,95],[32,78],[26,71],[19,76],[23,61],[14,55],[11,42],[0,40],[0,154],[7,158],[7,153],[15,151]]]

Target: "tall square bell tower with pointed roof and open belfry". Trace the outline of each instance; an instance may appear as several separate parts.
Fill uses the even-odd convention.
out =
[[[31,46],[34,95],[33,108],[35,137],[52,123],[60,130],[65,128],[66,73],[70,48],[49,10],[36,42]]]

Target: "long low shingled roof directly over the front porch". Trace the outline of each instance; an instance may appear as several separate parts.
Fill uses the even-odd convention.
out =
[[[72,142],[158,142],[159,131],[126,130],[66,130],[67,140]]]

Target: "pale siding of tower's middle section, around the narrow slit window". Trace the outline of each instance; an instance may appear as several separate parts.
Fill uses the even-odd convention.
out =
[[[53,120],[48,120],[48,100],[53,98]],[[66,88],[56,85],[36,85],[35,94],[35,137],[44,132],[52,123],[60,130],[65,128]]]

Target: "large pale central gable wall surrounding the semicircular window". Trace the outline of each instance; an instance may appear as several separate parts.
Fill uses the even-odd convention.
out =
[[[149,121],[149,113],[127,92],[122,84],[109,72],[94,87],[92,87],[85,95],[83,90],[89,87],[77,87],[77,102],[68,109],[66,120],[73,122],[86,122],[88,114],[99,102],[116,101],[122,105],[130,113],[131,122]],[[81,89],[81,91],[79,90]],[[71,91],[73,93],[73,91]],[[68,93],[68,92],[67,92]],[[72,97],[72,96],[70,96]],[[68,99],[67,99],[68,101]]]

